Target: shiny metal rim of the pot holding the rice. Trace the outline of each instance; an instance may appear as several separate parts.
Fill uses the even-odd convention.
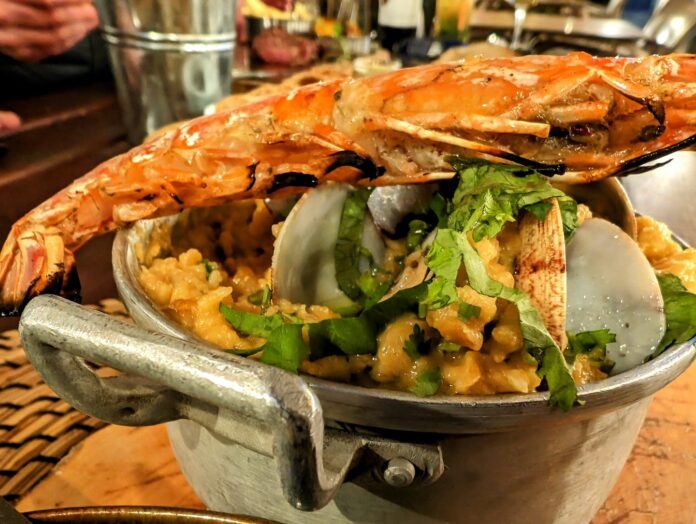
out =
[[[147,296],[136,277],[139,262],[135,245],[158,224],[176,217],[140,221],[117,233],[112,250],[114,279],[119,294],[135,322],[202,347],[219,350],[167,317]],[[231,355],[234,359],[248,359]],[[570,412],[549,408],[549,393],[498,394],[482,396],[416,397],[407,392],[366,388],[303,376],[319,398],[328,419],[398,431],[480,433],[541,423],[583,420],[637,402],[654,394],[696,359],[694,340],[674,346],[657,358],[629,371],[578,387],[578,401]],[[253,361],[254,365],[265,366]]]

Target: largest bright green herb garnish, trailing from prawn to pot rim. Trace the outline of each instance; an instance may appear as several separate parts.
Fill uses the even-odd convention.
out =
[[[549,403],[568,410],[575,402],[577,389],[560,348],[546,330],[529,296],[488,276],[485,264],[467,234],[471,233],[474,241],[492,238],[502,231],[505,224],[517,220],[523,209],[529,208],[535,216],[544,217],[548,212],[546,200],[571,199],[551,187],[548,179],[524,167],[460,158],[452,158],[450,163],[458,170],[460,180],[452,199],[447,227],[438,229],[426,256],[435,278],[428,284],[424,303],[428,308],[438,308],[458,300],[457,276],[463,264],[469,285],[475,291],[508,300],[517,306],[525,349],[539,365],[537,374],[546,380]],[[564,206],[569,220],[572,205]],[[569,229],[571,226],[569,224]]]

